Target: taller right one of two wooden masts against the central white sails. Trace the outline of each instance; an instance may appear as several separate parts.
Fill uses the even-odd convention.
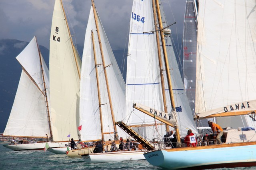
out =
[[[93,9],[93,14],[94,14],[94,20],[95,20],[95,24],[96,24],[98,40],[99,40],[99,45],[100,45],[100,54],[101,54],[101,57],[102,57],[102,64],[103,64],[103,68],[104,68],[104,75],[105,75],[105,80],[106,80],[106,86],[107,86],[107,90],[108,90],[108,100],[109,100],[109,104],[110,104],[110,111],[111,111],[111,115],[112,115],[112,123],[113,123],[113,127],[114,127],[114,138],[115,138],[115,140],[118,140],[117,139],[117,133],[116,133],[114,111],[113,111],[113,107],[112,107],[112,100],[111,100],[110,91],[109,91],[109,85],[108,85],[108,76],[107,76],[107,72],[106,72],[106,67],[107,66],[105,64],[104,54],[103,54],[103,51],[102,51],[102,43],[101,43],[101,39],[100,39],[100,32],[99,32],[97,14],[96,14],[96,10],[95,10],[95,6],[94,6],[94,1],[93,0],[92,0],[92,7],[93,7],[92,9]]]

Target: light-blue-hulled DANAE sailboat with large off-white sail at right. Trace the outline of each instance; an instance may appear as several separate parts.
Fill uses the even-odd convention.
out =
[[[255,6],[253,0],[199,2],[194,119],[222,120],[223,127],[243,116],[244,125],[254,125]],[[255,166],[255,136],[254,130],[231,128],[219,145],[161,149],[144,156],[150,164],[168,169]]]

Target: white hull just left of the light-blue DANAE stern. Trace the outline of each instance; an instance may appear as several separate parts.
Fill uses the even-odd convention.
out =
[[[118,151],[96,154],[84,154],[82,158],[86,163],[120,162],[124,160],[144,160],[144,151]]]

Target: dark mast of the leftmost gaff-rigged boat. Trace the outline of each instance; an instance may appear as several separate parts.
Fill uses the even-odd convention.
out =
[[[47,109],[47,117],[48,117],[48,124],[49,124],[49,128],[50,128],[50,139],[52,140],[52,125],[51,125],[51,119],[50,119],[50,110],[49,110],[49,104],[48,104],[48,96],[47,96],[47,92],[46,92],[46,83],[44,80],[44,68],[43,68],[43,63],[42,63],[42,55],[41,55],[41,51],[38,47],[38,43],[36,40],[36,44],[37,44],[37,49],[38,49],[38,53],[39,53],[39,58],[40,58],[40,64],[41,64],[41,70],[42,70],[42,78],[43,78],[43,82],[44,82],[44,96],[45,96],[45,102],[46,102],[46,109]]]

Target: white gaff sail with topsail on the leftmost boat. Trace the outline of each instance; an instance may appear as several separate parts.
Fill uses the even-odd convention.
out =
[[[30,41],[16,59],[23,70],[4,135],[45,137],[46,133],[50,134],[50,128],[36,37]],[[43,58],[42,61],[46,87],[49,87],[48,68]]]

